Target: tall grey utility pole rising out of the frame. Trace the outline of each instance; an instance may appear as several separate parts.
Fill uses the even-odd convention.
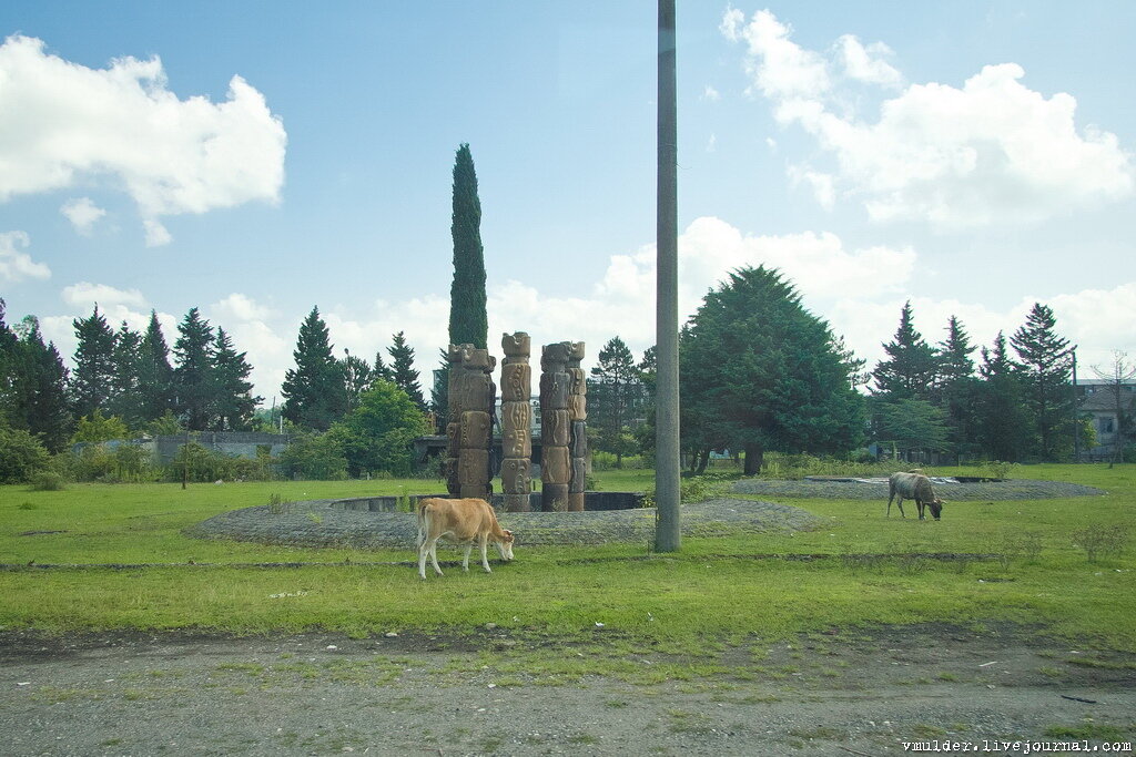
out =
[[[659,185],[657,249],[654,498],[658,552],[678,552],[678,118],[675,99],[675,0],[659,0]]]

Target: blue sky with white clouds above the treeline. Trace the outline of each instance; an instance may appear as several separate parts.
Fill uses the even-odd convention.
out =
[[[1136,5],[679,3],[680,312],[782,268],[874,364],[1034,301],[1136,353]],[[339,350],[445,342],[453,154],[490,342],[653,340],[651,2],[0,6],[0,296],[65,353],[200,306],[270,402],[318,305]],[[133,60],[131,60],[133,59]],[[234,77],[239,77],[235,78]]]

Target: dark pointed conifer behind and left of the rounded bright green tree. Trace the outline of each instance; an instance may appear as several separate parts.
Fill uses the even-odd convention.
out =
[[[332,354],[327,323],[318,308],[312,308],[300,325],[292,356],[295,369],[284,373],[281,386],[284,418],[303,428],[326,431],[346,413],[348,392],[343,368]]]

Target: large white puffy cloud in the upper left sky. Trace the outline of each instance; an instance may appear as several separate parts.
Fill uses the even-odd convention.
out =
[[[279,118],[240,76],[224,102],[181,100],[157,57],[92,69],[33,37],[0,45],[0,202],[110,179],[137,204],[147,243],[166,244],[162,216],[276,202],[285,143]]]

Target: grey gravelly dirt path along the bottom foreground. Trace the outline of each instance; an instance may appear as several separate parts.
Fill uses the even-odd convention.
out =
[[[0,631],[3,755],[846,757],[904,741],[1130,743],[1134,714],[1134,656],[1008,628],[834,630],[693,659],[603,631]]]

